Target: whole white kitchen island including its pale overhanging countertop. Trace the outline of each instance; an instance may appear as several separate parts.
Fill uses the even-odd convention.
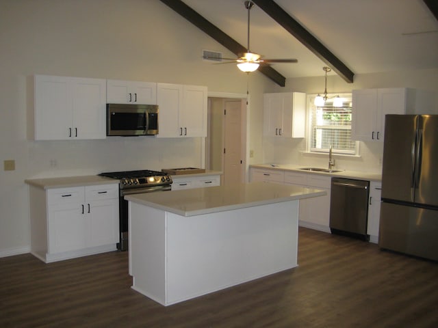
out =
[[[298,202],[324,194],[254,182],[127,195],[132,288],[171,305],[296,267]]]

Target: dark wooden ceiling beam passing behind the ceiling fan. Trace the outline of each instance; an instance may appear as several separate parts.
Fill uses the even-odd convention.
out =
[[[224,33],[221,29],[218,29],[215,25],[211,24],[208,20],[206,20],[203,16],[195,12],[188,5],[183,3],[180,0],[160,0],[165,5],[168,5],[169,8],[183,16],[190,23],[201,29],[205,33],[207,33],[211,38],[214,38],[217,42],[222,44],[229,51],[239,56],[242,53],[246,53],[246,48],[242,46],[239,42],[235,41],[233,38]],[[286,79],[279,72],[274,70],[271,66],[263,65],[258,69],[262,74],[266,75],[269,79],[280,85],[281,87],[285,86]]]

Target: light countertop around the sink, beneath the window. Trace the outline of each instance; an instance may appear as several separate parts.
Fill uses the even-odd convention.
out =
[[[352,171],[352,170],[342,170],[341,172],[326,173],[326,172],[305,171],[303,169],[300,169],[300,167],[309,167],[309,165],[258,164],[258,165],[249,165],[249,166],[257,169],[278,169],[280,171],[293,171],[293,172],[300,172],[306,174],[320,174],[324,176],[336,176],[339,178],[350,178],[350,179],[370,180],[370,181],[379,181],[379,182],[382,181],[382,174],[377,174],[377,173]]]

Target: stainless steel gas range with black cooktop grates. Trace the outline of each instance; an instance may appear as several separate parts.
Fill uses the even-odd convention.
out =
[[[125,195],[134,193],[152,193],[155,191],[169,191],[172,186],[172,178],[164,173],[148,169],[123,172],[104,172],[99,176],[106,176],[120,180],[119,183],[119,227],[120,243],[117,248],[120,251],[128,250],[128,202]]]

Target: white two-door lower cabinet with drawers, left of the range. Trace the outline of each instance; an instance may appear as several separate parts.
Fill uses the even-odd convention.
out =
[[[30,189],[31,253],[44,262],[116,249],[118,184]]]

